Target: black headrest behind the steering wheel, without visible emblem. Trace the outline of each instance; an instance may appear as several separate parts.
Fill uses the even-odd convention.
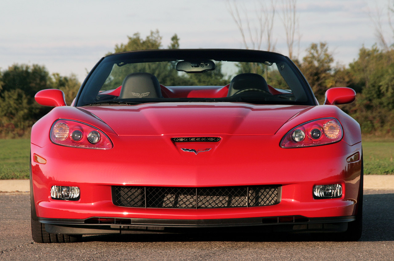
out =
[[[234,95],[236,92],[246,88],[262,89],[267,92],[268,85],[264,77],[259,74],[238,74],[232,78],[229,86],[227,97]]]

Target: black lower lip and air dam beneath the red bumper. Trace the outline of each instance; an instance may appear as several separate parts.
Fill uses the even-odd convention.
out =
[[[301,216],[242,219],[45,219],[48,233],[133,234],[133,233],[234,233],[234,232],[345,232],[355,216],[307,218]]]

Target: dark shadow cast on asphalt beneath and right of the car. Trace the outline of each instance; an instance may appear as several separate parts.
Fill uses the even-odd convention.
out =
[[[374,193],[375,191],[368,191]],[[384,192],[384,191],[383,191]],[[390,191],[391,192],[391,191]],[[359,241],[394,241],[394,193],[364,194],[363,232]],[[340,241],[335,233],[204,233],[85,235],[84,242],[305,242]]]

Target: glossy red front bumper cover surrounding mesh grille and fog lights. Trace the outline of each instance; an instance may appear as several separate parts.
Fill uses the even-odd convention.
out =
[[[357,213],[361,160],[348,163],[346,159],[361,153],[361,143],[350,146],[341,141],[318,147],[282,149],[278,138],[273,136],[228,136],[220,146],[194,154],[179,151],[171,143],[171,137],[111,136],[116,146],[107,151],[62,147],[50,142],[43,147],[32,144],[32,155],[36,153],[46,159],[46,164],[39,164],[32,158],[31,182],[37,217],[39,220],[116,217],[216,222],[288,216],[311,220]],[[147,144],[154,144],[154,149],[147,148]],[[256,144],[264,144],[269,149],[256,150]],[[343,195],[339,199],[313,199],[312,189],[316,184],[341,184]],[[193,210],[122,207],[112,201],[112,186],[260,185],[281,186],[279,204]],[[80,187],[80,200],[51,199],[51,186]]]

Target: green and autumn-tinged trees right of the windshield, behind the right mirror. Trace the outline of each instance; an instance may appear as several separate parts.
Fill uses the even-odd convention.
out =
[[[332,87],[350,87],[356,101],[340,108],[356,119],[364,135],[394,137],[394,50],[362,47],[348,66],[334,66],[326,43],[311,44],[299,68],[320,104]]]

